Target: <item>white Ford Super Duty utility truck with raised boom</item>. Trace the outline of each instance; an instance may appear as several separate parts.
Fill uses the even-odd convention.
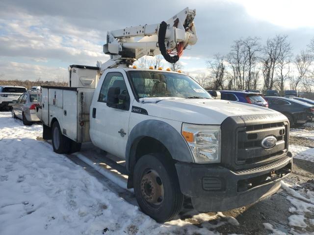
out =
[[[197,211],[255,203],[276,192],[292,168],[284,115],[213,99],[180,72],[131,67],[159,53],[177,62],[197,41],[194,17],[185,8],[161,24],[109,31],[110,60],[70,66],[69,87],[42,86],[38,105],[43,138],[56,153],[92,141],[124,159],[128,188],[159,222],[177,215],[184,200]]]

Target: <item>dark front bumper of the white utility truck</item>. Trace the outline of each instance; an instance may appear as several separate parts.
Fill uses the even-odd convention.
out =
[[[220,165],[176,163],[181,191],[197,211],[229,211],[275,193],[292,169],[290,152],[256,168],[232,171]]]

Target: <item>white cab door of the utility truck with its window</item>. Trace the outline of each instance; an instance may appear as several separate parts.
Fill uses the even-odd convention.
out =
[[[95,91],[90,110],[90,137],[99,148],[125,158],[125,150],[129,136],[129,119],[131,115],[130,93],[127,88],[128,80],[122,72],[108,72],[105,79],[100,81]],[[108,107],[107,93],[109,88],[119,87],[120,94],[129,97],[125,109]]]

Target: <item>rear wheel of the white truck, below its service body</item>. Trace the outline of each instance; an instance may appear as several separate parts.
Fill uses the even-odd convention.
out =
[[[71,140],[61,133],[57,121],[52,124],[52,147],[53,151],[59,154],[69,153],[71,149]]]

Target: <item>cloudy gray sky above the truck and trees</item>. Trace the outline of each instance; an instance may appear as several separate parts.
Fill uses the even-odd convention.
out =
[[[312,0],[1,0],[0,79],[67,80],[68,65],[107,60],[107,30],[160,23],[186,6],[196,9],[198,42],[181,62],[192,74],[240,37],[287,34],[294,53],[314,38]]]

